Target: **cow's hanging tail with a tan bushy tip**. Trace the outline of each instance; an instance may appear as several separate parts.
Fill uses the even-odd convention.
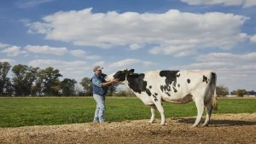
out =
[[[218,99],[216,95],[216,81],[217,81],[217,76],[216,73],[212,72],[211,74],[211,81],[210,84],[208,85],[207,89],[207,100],[211,100],[212,107],[214,111],[218,111]],[[206,103],[210,101],[205,101]]]

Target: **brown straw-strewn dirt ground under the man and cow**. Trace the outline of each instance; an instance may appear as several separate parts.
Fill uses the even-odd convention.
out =
[[[252,143],[256,113],[218,114],[209,127],[190,128],[195,118],[0,128],[0,143]]]

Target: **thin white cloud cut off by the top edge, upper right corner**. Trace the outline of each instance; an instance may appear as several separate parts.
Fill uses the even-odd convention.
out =
[[[225,6],[242,6],[244,8],[256,5],[255,0],[181,0],[183,3],[190,5],[215,5],[223,4]]]

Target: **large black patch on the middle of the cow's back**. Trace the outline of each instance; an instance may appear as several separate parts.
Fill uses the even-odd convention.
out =
[[[171,91],[171,88],[176,87],[177,78],[180,76],[178,72],[179,71],[160,71],[160,77],[166,77],[166,84],[160,86],[162,91]]]

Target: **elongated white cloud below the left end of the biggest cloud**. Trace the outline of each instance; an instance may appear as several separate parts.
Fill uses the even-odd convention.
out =
[[[52,54],[52,55],[64,55],[67,53],[67,48],[54,48],[48,45],[26,45],[25,49],[27,51],[39,54]]]

